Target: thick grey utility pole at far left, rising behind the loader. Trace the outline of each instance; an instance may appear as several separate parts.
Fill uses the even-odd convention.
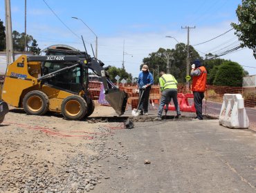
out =
[[[10,12],[10,0],[5,0],[6,3],[6,61],[7,65],[14,61],[13,43],[12,43],[12,18]]]

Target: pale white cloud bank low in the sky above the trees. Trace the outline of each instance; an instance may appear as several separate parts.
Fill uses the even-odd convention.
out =
[[[209,39],[212,39],[213,37],[216,37],[219,34],[222,34],[223,32],[226,32],[227,30],[230,30],[230,28],[230,21],[226,21],[216,26],[205,26],[203,28],[196,28],[190,30],[190,44],[194,45],[196,43],[207,41]],[[60,32],[58,33],[57,28],[53,28],[51,30],[52,39],[60,39],[59,43],[68,44],[77,49],[84,50],[82,41],[79,39],[75,39],[75,37],[71,33],[67,32],[67,30],[64,30],[63,34],[60,34]],[[118,34],[115,37],[99,37],[98,59],[102,60],[105,63],[105,65],[114,65],[118,68],[122,67],[122,61],[124,60],[127,72],[131,73],[134,77],[137,77],[139,72],[139,66],[143,62],[143,58],[148,57],[148,55],[152,52],[156,52],[158,48],[172,49],[175,47],[176,41],[174,39],[166,38],[166,35],[175,37],[180,42],[187,43],[186,30],[163,30],[161,32],[147,33],[127,32],[123,34]],[[95,52],[95,39],[93,35],[89,34],[89,36],[91,37],[91,43],[93,45]],[[66,39],[62,39],[63,37],[66,37]],[[72,43],[72,41],[70,41],[70,43],[65,42],[65,40],[70,39],[73,39],[75,43]],[[208,43],[194,46],[194,48],[201,52],[206,52],[208,50],[212,50],[213,48],[215,48],[213,51],[217,51],[225,47],[226,45],[221,44],[230,39],[233,39],[233,41],[237,40],[237,37],[235,36],[233,31],[230,31],[227,34],[217,39],[214,39],[213,41],[210,41]],[[125,50],[123,50],[124,40]],[[40,41],[40,45],[42,44],[52,45],[55,43],[46,40]],[[44,48],[45,47],[46,46],[44,46]],[[91,45],[88,42],[86,42],[86,47],[89,54],[92,55]],[[125,51],[125,54],[123,54],[123,51]],[[199,52],[199,54],[201,54],[201,57],[204,57],[204,54],[202,54],[201,52]],[[253,52],[249,49],[244,49],[233,54],[227,54],[221,58],[230,59],[244,66],[255,67],[255,59],[253,58]],[[247,70],[250,74],[256,74],[256,71],[253,68],[244,67],[244,69]]]

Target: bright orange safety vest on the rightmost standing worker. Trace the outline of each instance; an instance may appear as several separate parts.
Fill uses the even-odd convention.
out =
[[[199,67],[201,74],[199,76],[194,76],[192,80],[192,91],[205,92],[206,81],[207,81],[207,71],[204,66]]]

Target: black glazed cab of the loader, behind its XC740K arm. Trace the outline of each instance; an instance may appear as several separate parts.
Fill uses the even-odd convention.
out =
[[[46,50],[46,55],[77,55],[84,54],[77,50],[60,49],[60,48],[49,48]],[[42,62],[42,76],[66,68],[68,66],[75,65],[75,62],[71,61],[44,61]],[[54,77],[46,79],[43,83],[50,85],[53,88],[60,90],[65,90],[67,92],[72,92],[78,94],[81,90],[86,88],[86,83],[88,80],[88,68],[82,66],[77,66],[57,74]]]

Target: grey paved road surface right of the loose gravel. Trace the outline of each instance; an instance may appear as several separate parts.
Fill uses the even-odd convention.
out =
[[[218,120],[135,123],[115,130],[91,192],[256,192],[256,133]],[[150,164],[144,164],[148,159]]]

